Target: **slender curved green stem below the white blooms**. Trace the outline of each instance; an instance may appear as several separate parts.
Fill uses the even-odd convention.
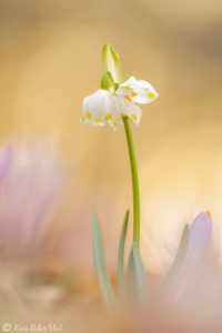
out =
[[[140,249],[140,188],[138,178],[138,165],[135,159],[135,150],[130,128],[130,119],[123,117],[125,137],[128,141],[128,151],[130,157],[130,167],[132,175],[132,192],[133,192],[133,242]]]

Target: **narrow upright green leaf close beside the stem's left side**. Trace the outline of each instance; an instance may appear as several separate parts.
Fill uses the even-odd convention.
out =
[[[125,293],[124,249],[125,249],[125,239],[127,239],[128,225],[129,225],[129,214],[130,211],[128,210],[122,225],[122,231],[121,231],[120,242],[119,242],[119,251],[118,251],[118,283],[119,283],[119,291],[122,296]]]

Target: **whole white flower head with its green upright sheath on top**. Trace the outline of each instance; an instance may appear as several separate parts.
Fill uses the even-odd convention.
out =
[[[123,124],[122,118],[128,117],[139,124],[142,111],[137,104],[154,101],[158,92],[149,82],[134,77],[123,82],[119,56],[110,44],[103,48],[103,63],[101,89],[83,100],[81,122],[117,129]]]

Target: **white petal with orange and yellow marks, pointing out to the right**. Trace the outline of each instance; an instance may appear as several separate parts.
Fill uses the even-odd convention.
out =
[[[134,77],[121,83],[117,94],[140,104],[150,103],[159,95],[152,84],[144,80],[137,80]]]

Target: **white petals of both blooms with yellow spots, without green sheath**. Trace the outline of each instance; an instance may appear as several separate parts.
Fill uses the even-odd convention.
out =
[[[114,129],[122,125],[122,117],[129,117],[135,124],[140,123],[142,110],[135,104],[145,104],[158,98],[155,89],[147,81],[131,77],[113,88],[99,89],[83,100],[82,123],[110,125]]]

